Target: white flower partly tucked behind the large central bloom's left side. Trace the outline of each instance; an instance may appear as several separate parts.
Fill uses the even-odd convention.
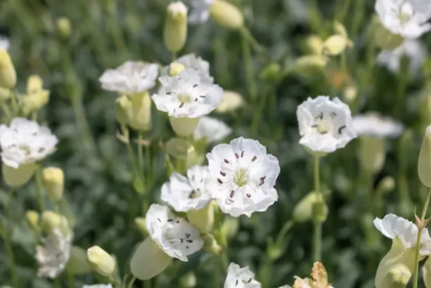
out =
[[[162,186],[162,201],[178,212],[203,208],[211,201],[210,192],[205,188],[208,171],[207,166],[195,165],[187,170],[187,177],[174,172]]]

